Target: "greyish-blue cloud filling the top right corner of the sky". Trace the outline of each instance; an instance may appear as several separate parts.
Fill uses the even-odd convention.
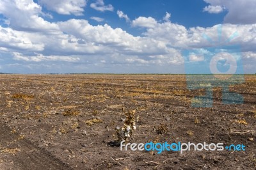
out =
[[[232,1],[216,1],[204,0],[211,6],[225,6],[228,13],[224,18],[225,23],[230,24],[255,24],[256,23],[256,3],[255,0],[232,0]]]

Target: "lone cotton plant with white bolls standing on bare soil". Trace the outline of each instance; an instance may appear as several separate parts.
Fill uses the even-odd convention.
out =
[[[136,110],[125,112],[126,118],[123,120],[124,126],[122,128],[116,127],[116,134],[118,141],[128,141],[131,137],[133,130],[136,130],[136,123],[134,119],[134,114]]]

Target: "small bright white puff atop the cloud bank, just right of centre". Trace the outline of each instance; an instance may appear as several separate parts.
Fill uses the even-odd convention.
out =
[[[138,17],[135,20],[132,20],[132,26],[138,27],[155,27],[157,21],[152,17]]]

